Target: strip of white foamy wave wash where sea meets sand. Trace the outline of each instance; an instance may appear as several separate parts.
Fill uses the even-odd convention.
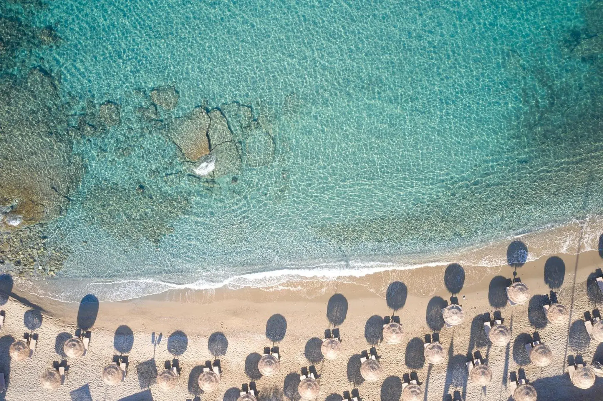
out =
[[[63,302],[79,302],[87,293],[95,293],[99,299],[118,302],[137,299],[149,295],[161,294],[173,290],[218,290],[227,288],[267,288],[273,290],[291,281],[346,281],[348,278],[361,278],[390,270],[414,270],[447,266],[458,263],[463,266],[493,269],[508,263],[507,246],[511,241],[520,240],[527,247],[525,263],[538,260],[549,254],[566,253],[575,255],[576,244],[581,243],[581,252],[599,249],[603,232],[603,219],[590,216],[584,220],[572,220],[560,226],[545,226],[532,232],[490,241],[484,244],[455,249],[441,258],[437,253],[412,259],[411,255],[400,256],[363,256],[346,261],[322,261],[298,264],[276,270],[245,273],[221,282],[198,280],[187,284],[164,282],[152,278],[119,279],[116,281],[94,281],[92,278],[60,277],[43,280],[17,279],[14,286],[19,290],[40,297],[48,297]],[[287,266],[285,264],[285,266]],[[257,267],[256,267],[257,268]],[[250,268],[251,269],[251,268]],[[86,283],[86,280],[92,282]],[[65,294],[66,288],[73,291]],[[63,291],[63,292],[62,292]],[[75,292],[75,293],[74,293]]]

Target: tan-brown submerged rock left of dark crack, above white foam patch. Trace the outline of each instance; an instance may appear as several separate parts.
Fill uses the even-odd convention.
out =
[[[210,120],[204,108],[197,107],[190,114],[178,117],[168,124],[165,132],[185,157],[197,161],[209,154],[207,128]]]

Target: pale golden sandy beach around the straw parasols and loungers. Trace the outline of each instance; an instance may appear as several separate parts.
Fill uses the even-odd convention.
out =
[[[574,234],[568,232],[567,236]],[[529,249],[543,235],[523,240]],[[507,246],[508,241],[487,252],[506,252]],[[578,244],[575,246],[577,249]],[[595,271],[602,264],[598,250],[528,261],[517,269],[517,276],[528,285],[531,299],[517,306],[505,305],[505,283],[514,270],[507,265],[391,270],[361,278],[290,281],[274,288],[178,290],[96,305],[58,302],[15,286],[1,307],[6,323],[0,337],[0,360],[8,390],[0,398],[161,401],[200,397],[235,401],[241,385],[253,381],[260,400],[298,401],[301,368],[314,365],[320,381],[317,400],[341,400],[344,391],[355,387],[367,401],[399,401],[404,376],[413,371],[426,390],[425,400],[452,399],[455,391],[467,401],[507,400],[511,396],[509,375],[518,369],[534,385],[539,400],[598,400],[603,397],[602,379],[597,378],[589,390],[579,390],[570,383],[566,361],[568,356],[578,355],[587,363],[603,358],[603,346],[589,337],[584,326],[584,312],[592,312],[603,300],[594,282]],[[451,288],[459,290],[458,302],[465,317],[461,325],[446,328],[440,308],[450,302]],[[553,325],[546,320],[541,307],[551,288],[558,302],[569,308],[567,323]],[[28,332],[24,316],[31,316],[31,309],[42,315],[42,325],[35,331],[39,335],[36,352],[31,359],[11,362],[8,347],[14,338]],[[503,323],[512,331],[507,346],[493,346],[485,337],[484,314],[493,319],[494,311],[500,311]],[[399,316],[405,330],[400,344],[382,342],[384,317],[392,314]],[[41,373],[51,368],[53,361],[65,359],[64,341],[75,334],[77,322],[85,320],[93,322],[89,352],[67,361],[65,385],[55,391],[42,390]],[[333,326],[340,330],[343,350],[338,359],[326,360],[320,344],[324,331]],[[439,332],[447,353],[438,365],[429,364],[423,356],[425,335],[434,332]],[[554,354],[545,368],[532,364],[524,348],[535,332]],[[153,333],[154,338],[162,334],[156,346]],[[264,347],[273,344],[280,350],[280,371],[262,377],[257,360]],[[359,358],[373,346],[383,371],[378,381],[368,382],[359,375]],[[119,351],[128,357],[127,377],[118,387],[108,387],[100,373]],[[475,352],[481,353],[493,373],[487,387],[467,380],[467,356]],[[174,353],[180,354],[176,355],[180,382],[166,393],[153,384],[152,372],[163,370]],[[201,394],[198,375],[206,361],[215,358],[223,371],[219,389]]]

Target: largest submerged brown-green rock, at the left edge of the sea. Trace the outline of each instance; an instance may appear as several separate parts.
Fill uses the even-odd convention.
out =
[[[42,68],[25,79],[0,79],[0,205],[12,216],[0,231],[48,222],[65,213],[79,185],[81,160],[72,155],[68,122],[57,85]]]

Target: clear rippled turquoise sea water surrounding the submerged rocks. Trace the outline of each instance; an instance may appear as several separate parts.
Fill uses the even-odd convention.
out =
[[[60,276],[219,283],[324,261],[410,262],[601,213],[590,3],[14,5],[62,37],[35,57],[65,99],[121,106],[120,125],[74,141],[86,170],[50,225],[71,249]],[[236,182],[195,178],[136,114],[160,85],[180,93],[162,119],[250,105],[273,159],[244,160]]]

